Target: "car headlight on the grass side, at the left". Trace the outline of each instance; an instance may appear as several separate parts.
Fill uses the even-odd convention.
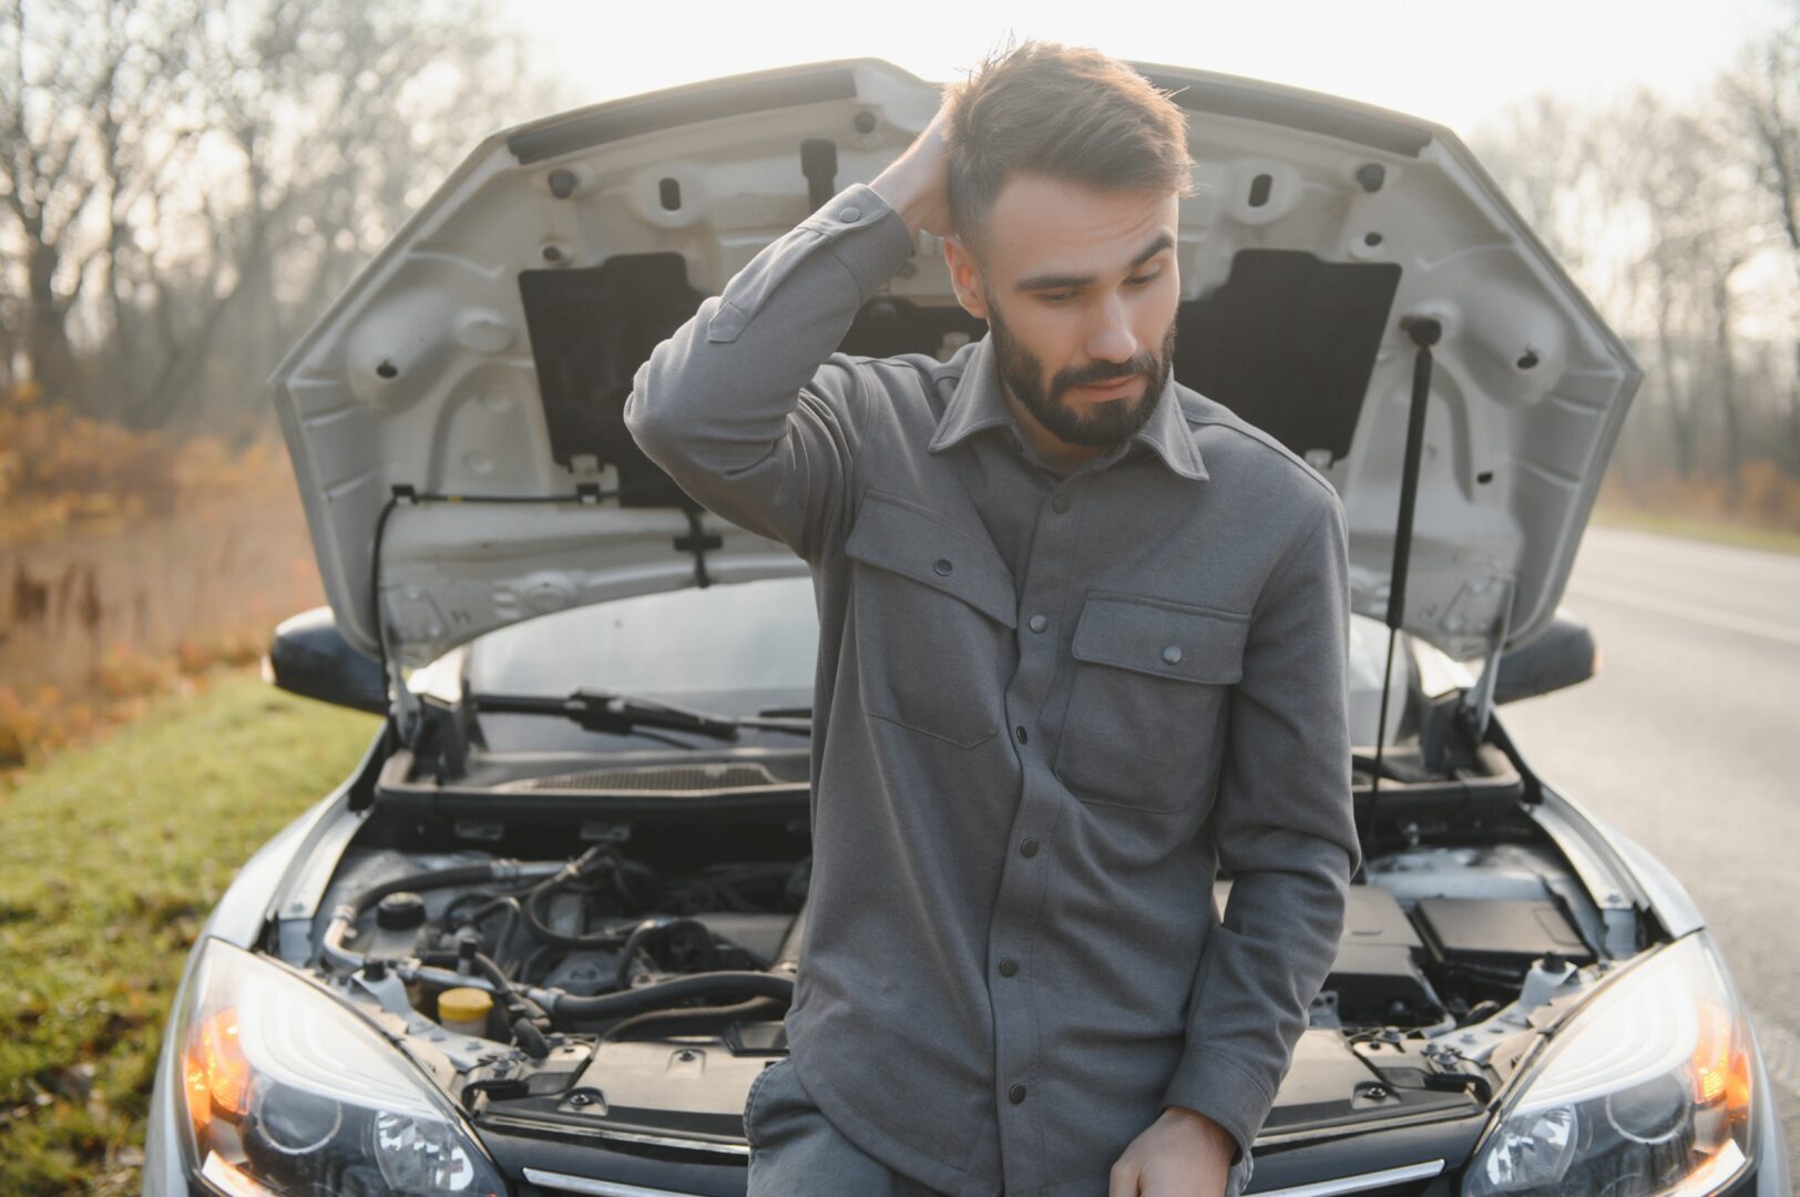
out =
[[[209,940],[189,994],[187,1163],[218,1192],[506,1192],[450,1102],[317,986]]]

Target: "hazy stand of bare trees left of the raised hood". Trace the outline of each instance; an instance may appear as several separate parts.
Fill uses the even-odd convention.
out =
[[[463,149],[551,103],[493,0],[0,5],[22,356],[137,427],[243,410]]]

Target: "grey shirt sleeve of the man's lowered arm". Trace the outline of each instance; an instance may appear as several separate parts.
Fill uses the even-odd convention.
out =
[[[1195,970],[1188,1042],[1165,1105],[1206,1114],[1244,1159],[1274,1105],[1343,934],[1361,860],[1350,801],[1350,569],[1327,495],[1251,617],[1213,812],[1231,871]]]

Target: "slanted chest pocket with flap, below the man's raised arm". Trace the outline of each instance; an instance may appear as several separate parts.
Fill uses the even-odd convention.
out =
[[[970,749],[999,731],[1017,596],[992,544],[880,491],[844,542],[857,560],[862,709]]]

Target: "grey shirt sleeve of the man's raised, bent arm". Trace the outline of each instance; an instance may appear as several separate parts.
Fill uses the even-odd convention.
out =
[[[625,401],[637,446],[700,506],[817,560],[848,506],[864,401],[833,349],[911,250],[873,189],[837,193],[652,351]]]

